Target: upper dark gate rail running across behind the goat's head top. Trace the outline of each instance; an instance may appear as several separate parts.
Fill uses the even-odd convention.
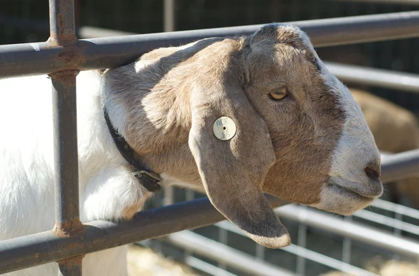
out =
[[[418,11],[290,23],[307,31],[316,47],[419,36]],[[67,49],[50,43],[0,45],[0,78],[43,75],[64,69],[113,68],[129,63],[157,47],[181,45],[214,36],[247,35],[260,26],[93,38],[79,40],[78,46]]]

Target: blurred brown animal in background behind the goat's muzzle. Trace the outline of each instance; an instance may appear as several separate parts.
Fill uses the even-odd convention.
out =
[[[402,153],[419,148],[419,122],[415,114],[388,100],[359,89],[350,89],[361,107],[378,149]],[[419,177],[409,177],[390,185],[392,201],[404,195],[419,208]]]

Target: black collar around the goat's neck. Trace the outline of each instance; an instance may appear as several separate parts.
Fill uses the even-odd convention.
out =
[[[108,129],[112,139],[114,140],[115,146],[117,146],[119,153],[122,157],[131,164],[133,169],[133,176],[137,178],[138,182],[143,185],[149,192],[157,192],[161,190],[161,185],[159,185],[161,178],[154,171],[147,171],[142,164],[139,164],[135,160],[135,151],[131,146],[128,145],[124,137],[119,135],[119,133],[113,128],[112,123],[110,122],[108,112],[106,109],[103,109],[103,114],[105,115],[105,121],[108,125]]]

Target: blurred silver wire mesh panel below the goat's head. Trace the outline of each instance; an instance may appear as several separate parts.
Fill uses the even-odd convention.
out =
[[[180,189],[172,192],[174,201],[201,196]],[[156,205],[158,199],[149,207]],[[378,267],[386,261],[415,263],[419,258],[419,210],[413,208],[378,199],[351,217],[300,205],[278,208],[277,213],[293,240],[291,246],[281,250],[256,245],[226,221],[142,244],[209,275],[220,275],[221,270],[226,275],[320,275],[332,270],[376,275]],[[344,231],[359,233],[347,236]],[[209,239],[216,242],[207,246]],[[236,258],[246,262],[237,266]]]

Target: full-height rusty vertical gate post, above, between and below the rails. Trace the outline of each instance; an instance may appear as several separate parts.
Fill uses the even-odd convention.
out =
[[[74,0],[50,0],[50,39],[52,45],[77,45]],[[68,57],[71,59],[71,57]],[[75,78],[78,70],[50,74],[54,120],[55,226],[57,236],[82,233],[78,191],[78,139]],[[59,261],[58,275],[82,275],[82,256]]]

